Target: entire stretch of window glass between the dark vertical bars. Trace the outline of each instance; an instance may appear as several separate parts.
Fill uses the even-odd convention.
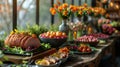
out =
[[[0,32],[9,33],[13,27],[13,1],[0,0]],[[17,1],[17,28],[26,28],[26,24],[33,25],[36,23],[36,0],[16,0]],[[51,14],[49,9],[52,0],[39,0],[39,24],[50,25]],[[53,0],[56,3],[56,0]],[[63,0],[59,0],[61,3]],[[73,2],[72,2],[73,1]],[[92,0],[65,0],[68,4],[79,5],[87,2],[91,6]],[[74,17],[72,18],[74,19]],[[71,21],[71,20],[70,20]],[[58,15],[54,16],[54,23],[60,24],[61,21]],[[14,26],[15,27],[15,26]]]

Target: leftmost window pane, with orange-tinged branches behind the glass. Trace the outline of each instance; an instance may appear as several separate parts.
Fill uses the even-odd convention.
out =
[[[0,0],[0,32],[12,30],[12,0]]]

